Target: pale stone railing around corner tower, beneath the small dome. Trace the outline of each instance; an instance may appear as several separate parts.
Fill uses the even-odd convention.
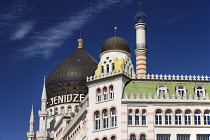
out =
[[[102,73],[100,75],[94,75],[94,76],[87,77],[87,82],[114,76],[114,75],[119,75],[119,74],[124,74],[125,76],[127,76],[131,79],[134,78],[134,77],[131,77],[131,75],[129,73],[125,72],[124,70],[115,70],[115,71],[112,71],[109,73]]]

